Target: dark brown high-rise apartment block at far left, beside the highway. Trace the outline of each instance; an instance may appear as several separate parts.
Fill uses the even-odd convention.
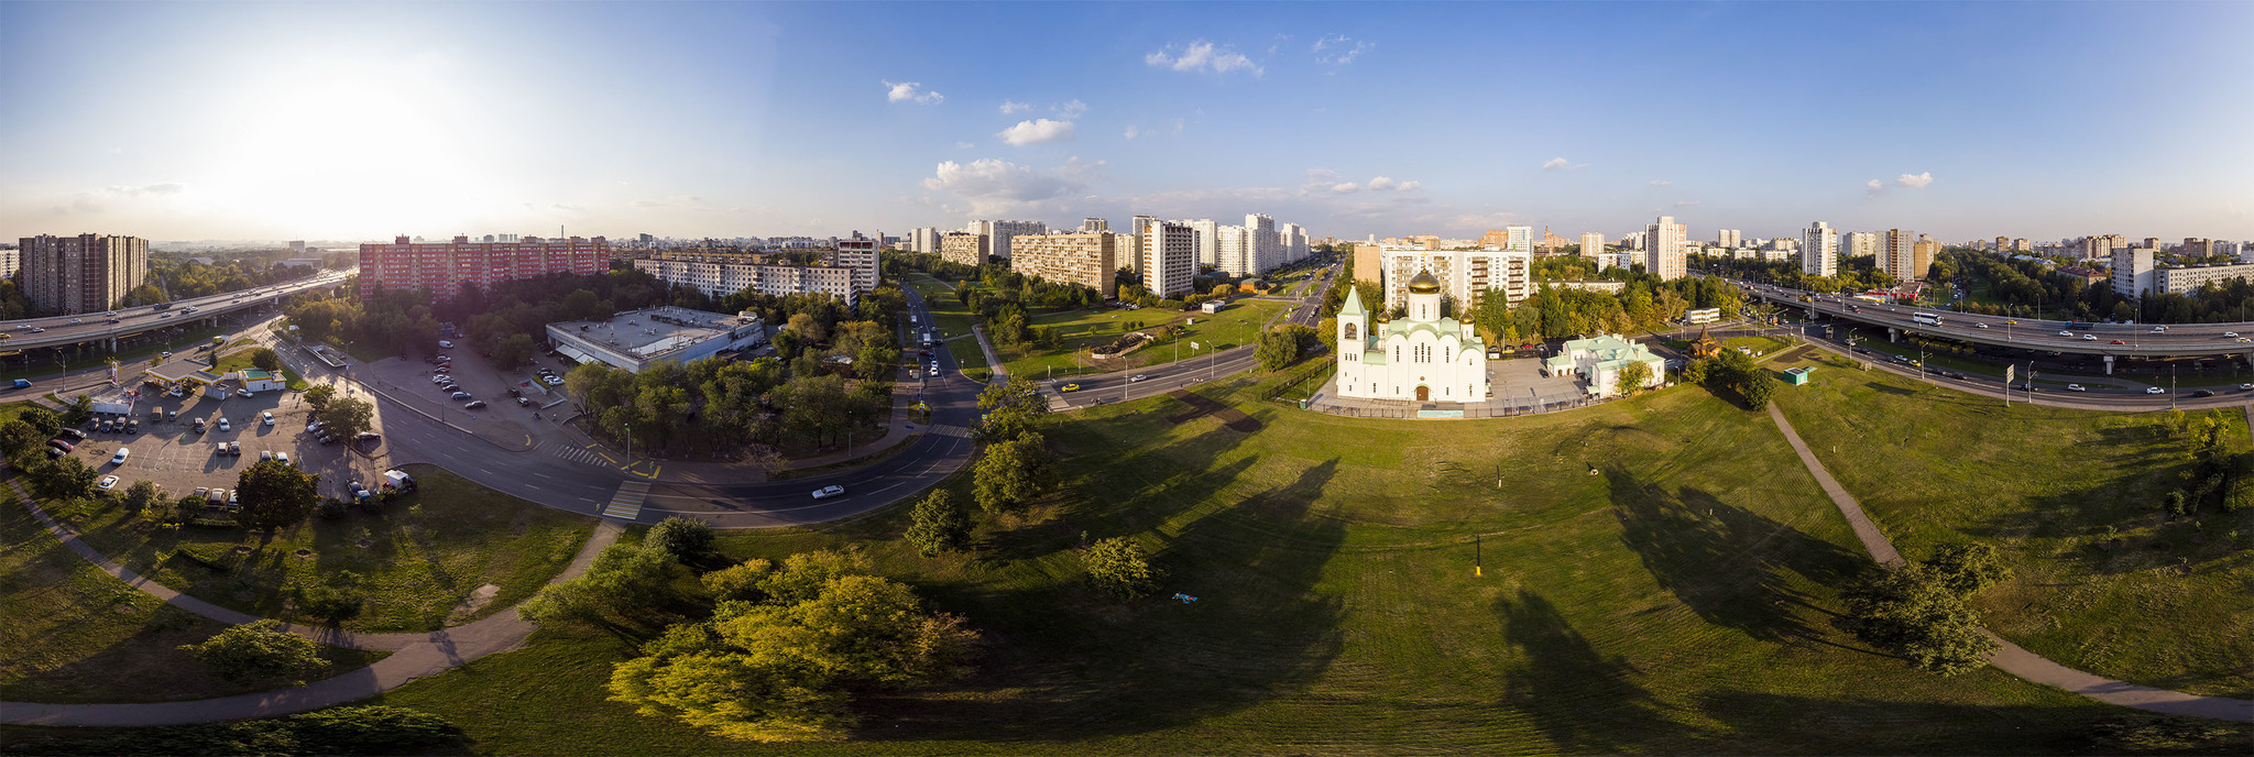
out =
[[[149,279],[149,241],[140,237],[18,239],[23,295],[45,313],[108,311]]]

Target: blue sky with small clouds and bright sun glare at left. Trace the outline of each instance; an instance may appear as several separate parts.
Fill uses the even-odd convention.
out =
[[[7,2],[0,237],[2254,239],[2249,2]]]

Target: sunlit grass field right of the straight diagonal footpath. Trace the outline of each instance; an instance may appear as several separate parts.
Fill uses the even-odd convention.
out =
[[[1776,401],[1898,547],[1981,541],[2011,559],[2017,575],[1979,597],[1990,631],[2107,678],[2254,696],[2254,509],[2162,516],[2191,484],[2191,437],[2166,435],[2164,412],[2006,410],[1801,363],[1826,367]],[[2245,412],[2220,421],[2245,451]]]

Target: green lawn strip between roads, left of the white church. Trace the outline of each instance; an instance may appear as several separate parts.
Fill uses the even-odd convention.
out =
[[[1183,313],[1183,311],[1161,311],[1161,309],[1093,309],[1093,311],[1071,311],[1053,315],[1035,315],[1035,327],[1057,329],[1057,347],[996,347],[1001,351],[1010,374],[1044,379],[1055,372],[1055,376],[1066,376],[1075,372],[1113,372],[1122,367],[1145,367],[1170,363],[1177,356],[1177,342],[1181,345],[1179,356],[1183,360],[1208,354],[1213,349],[1231,349],[1240,345],[1251,345],[1260,338],[1260,329],[1276,318],[1276,313],[1289,309],[1285,302],[1264,300],[1237,300],[1222,309],[1219,313]],[[1089,358],[1091,347],[1109,345],[1127,331],[1152,331],[1170,322],[1190,322],[1188,333],[1179,338],[1161,338],[1159,342],[1127,354],[1125,360],[1093,360]],[[1190,342],[1199,349],[1192,354]]]

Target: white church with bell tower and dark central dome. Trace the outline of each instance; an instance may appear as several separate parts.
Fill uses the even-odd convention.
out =
[[[1361,293],[1339,311],[1339,397],[1485,401],[1488,342],[1472,324],[1440,315],[1440,279],[1409,279],[1409,315],[1370,329]]]

